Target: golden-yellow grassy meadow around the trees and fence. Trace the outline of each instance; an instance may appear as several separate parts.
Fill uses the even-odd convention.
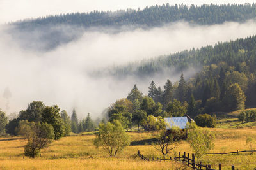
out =
[[[248,150],[246,137],[256,139],[256,127],[239,129],[211,129],[216,139],[214,152],[232,152]],[[94,134],[68,136],[54,141],[48,148],[42,150],[41,157],[29,159],[23,157],[23,146],[26,144],[21,138],[0,138],[0,169],[186,169],[178,162],[147,162],[138,159],[138,150],[146,157],[161,155],[154,147],[147,143],[153,138],[150,132],[130,132],[133,146],[127,146],[116,158],[109,158],[101,148],[93,146]],[[143,143],[141,144],[141,141]],[[146,141],[146,142],[145,142]],[[168,155],[179,155],[179,152],[191,152],[186,141]],[[237,169],[254,169],[256,167],[256,153],[240,153],[239,155],[206,155],[204,164],[211,164],[213,168],[221,163],[224,169],[235,165]]]

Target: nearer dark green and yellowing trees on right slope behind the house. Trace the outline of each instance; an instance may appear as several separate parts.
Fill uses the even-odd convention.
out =
[[[246,65],[242,62],[240,66]],[[243,110],[246,102],[244,90],[249,93],[248,87],[244,86],[244,83],[249,83],[244,81],[249,79],[246,75],[250,76],[255,88],[255,75],[236,71],[235,67],[225,63],[205,66],[195,78],[188,81],[183,74],[179,83],[173,84],[166,80],[163,90],[151,81],[146,96],[134,85],[126,98],[109,106],[109,121],[119,120],[125,129],[138,125],[138,128],[142,126],[150,130],[150,124],[154,124],[157,117],[180,117],[186,114],[196,117],[204,113]],[[249,97],[255,96],[250,94]],[[216,118],[209,115],[201,115],[196,120],[202,126],[214,127],[216,124]]]

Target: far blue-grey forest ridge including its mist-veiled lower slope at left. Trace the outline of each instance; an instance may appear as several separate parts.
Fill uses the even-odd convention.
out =
[[[244,22],[255,17],[255,4],[163,4],[143,10],[92,11],[27,19],[10,23],[8,33],[21,41],[25,48],[52,50],[58,45],[79,39],[86,30],[115,34],[127,29],[150,29],[178,21],[192,25],[214,25],[228,21]]]

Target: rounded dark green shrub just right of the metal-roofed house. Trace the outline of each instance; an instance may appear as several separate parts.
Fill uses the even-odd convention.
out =
[[[200,127],[215,127],[216,125],[216,117],[211,117],[211,115],[204,114],[198,115],[195,117],[196,125]]]

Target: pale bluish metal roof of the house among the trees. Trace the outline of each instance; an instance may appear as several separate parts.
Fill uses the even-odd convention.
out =
[[[166,129],[170,130],[170,127],[177,126],[180,129],[185,129],[188,123],[187,117],[167,117],[164,118],[164,121],[167,122],[169,125],[166,125]]]

